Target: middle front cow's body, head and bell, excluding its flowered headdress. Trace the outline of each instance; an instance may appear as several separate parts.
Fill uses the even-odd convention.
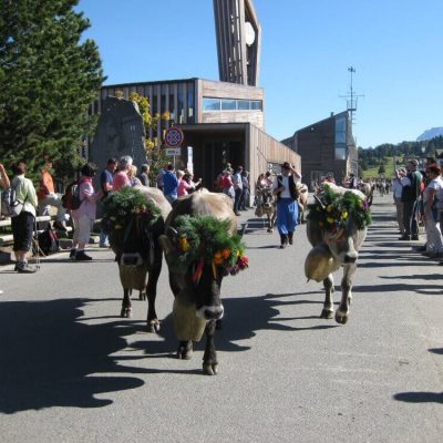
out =
[[[174,204],[166,219],[165,234],[159,237],[159,244],[165,253],[169,270],[169,286],[174,293],[173,318],[178,339],[177,357],[189,359],[193,352],[193,341],[199,341],[206,334],[206,346],[203,357],[203,372],[208,375],[217,373],[217,353],[214,346],[216,323],[224,315],[220,299],[222,280],[227,275],[226,269],[216,268],[213,262],[203,259],[208,245],[200,235],[200,248],[195,253],[202,259],[183,266],[177,265],[177,257],[183,257],[179,234],[179,220],[189,216],[193,219],[209,215],[217,220],[226,220],[225,235],[231,238],[237,233],[237,219],[233,210],[231,199],[225,194],[193,193],[181,197]],[[186,218],[186,217],[185,217]],[[178,230],[177,230],[178,229]],[[198,278],[196,274],[198,271]],[[233,272],[230,272],[233,274]]]

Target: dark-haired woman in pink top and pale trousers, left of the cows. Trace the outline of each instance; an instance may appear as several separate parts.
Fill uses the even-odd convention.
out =
[[[96,166],[94,163],[86,163],[81,168],[82,176],[80,177],[79,186],[82,204],[79,209],[74,209],[71,213],[74,235],[70,258],[76,261],[92,260],[92,257],[85,254],[84,248],[90,241],[92,225],[95,220],[96,202],[103,196],[102,189],[96,193],[92,184],[95,173]]]

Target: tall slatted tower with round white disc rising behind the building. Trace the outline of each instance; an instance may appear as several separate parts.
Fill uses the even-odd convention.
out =
[[[214,17],[220,81],[257,86],[261,28],[253,0],[214,0]]]

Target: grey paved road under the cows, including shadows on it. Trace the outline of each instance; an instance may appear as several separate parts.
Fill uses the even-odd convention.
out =
[[[200,374],[202,343],[174,358],[166,272],[154,336],[145,302],[117,316],[110,251],[0,268],[1,442],[441,442],[443,267],[395,240],[391,198],[375,199],[346,326],[318,317],[305,227],[279,250],[247,217],[250,269],[224,281],[217,377]]]

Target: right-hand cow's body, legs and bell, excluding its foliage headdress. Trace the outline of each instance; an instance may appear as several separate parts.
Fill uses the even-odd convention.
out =
[[[364,195],[360,190],[347,189],[336,185],[328,185],[328,188],[341,196],[346,193],[354,194],[361,200],[361,210],[368,210]],[[322,202],[323,193],[316,197],[317,204],[310,210],[323,212],[326,218],[333,214],[333,208],[331,208],[332,205]],[[360,226],[359,228],[351,213],[346,213],[346,216],[342,217],[344,222],[339,225],[338,229],[327,229],[324,224],[316,217],[318,217],[318,214],[311,215],[310,213],[308,215],[307,235],[313,248],[305,262],[305,271],[308,278],[317,281],[323,280],[326,298],[320,317],[330,319],[333,317],[332,272],[340,267],[343,268],[342,295],[340,306],[336,312],[336,321],[344,324],[348,321],[349,306],[352,299],[352,277],[357,269],[358,251],[367,236],[367,228],[365,226]]]

